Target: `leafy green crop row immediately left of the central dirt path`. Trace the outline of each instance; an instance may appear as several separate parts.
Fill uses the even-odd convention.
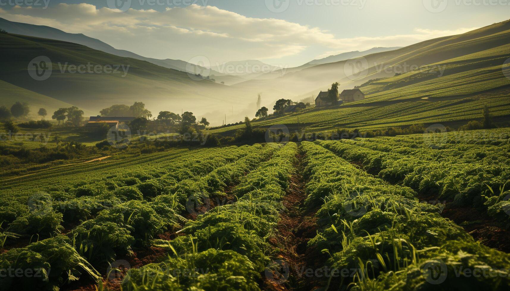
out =
[[[296,152],[296,144],[288,143],[240,179],[235,202],[188,221],[172,241],[155,240],[169,258],[131,269],[123,289],[259,290]]]

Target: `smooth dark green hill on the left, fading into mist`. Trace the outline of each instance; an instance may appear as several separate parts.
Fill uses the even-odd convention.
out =
[[[89,111],[98,112],[112,104],[134,101],[143,101],[153,114],[160,110],[180,112],[181,109],[199,114],[222,109],[226,102],[244,104],[239,93],[228,86],[79,44],[2,34],[0,47],[3,51],[0,80]],[[44,81],[36,81],[28,73],[29,63],[39,56],[48,57],[53,65],[52,74]],[[118,73],[103,70],[101,73],[73,73],[65,67],[87,64],[123,65],[129,69],[123,76],[122,69]]]

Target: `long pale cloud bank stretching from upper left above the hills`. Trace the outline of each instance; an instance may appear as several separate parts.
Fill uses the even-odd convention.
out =
[[[83,33],[154,58],[189,60],[205,55],[211,63],[221,63],[292,56],[311,43],[329,49],[341,45],[333,34],[319,28],[281,19],[246,17],[212,6],[118,13],[91,4],[62,3],[47,9],[0,9],[0,15],[11,21]]]

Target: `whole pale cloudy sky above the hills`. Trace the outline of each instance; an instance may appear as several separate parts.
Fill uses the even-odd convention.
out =
[[[294,67],[507,20],[510,0],[0,0],[0,17],[144,57]]]

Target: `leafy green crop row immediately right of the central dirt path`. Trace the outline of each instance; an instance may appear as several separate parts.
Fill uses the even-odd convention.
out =
[[[320,229],[309,248],[325,253],[323,264],[338,270],[330,272],[337,277],[324,278],[325,285],[350,284],[353,290],[510,286],[510,256],[474,242],[442,218],[438,206],[419,202],[412,189],[369,175],[318,144],[301,146],[310,180],[305,202],[319,207]],[[480,268],[500,276],[470,276]]]

